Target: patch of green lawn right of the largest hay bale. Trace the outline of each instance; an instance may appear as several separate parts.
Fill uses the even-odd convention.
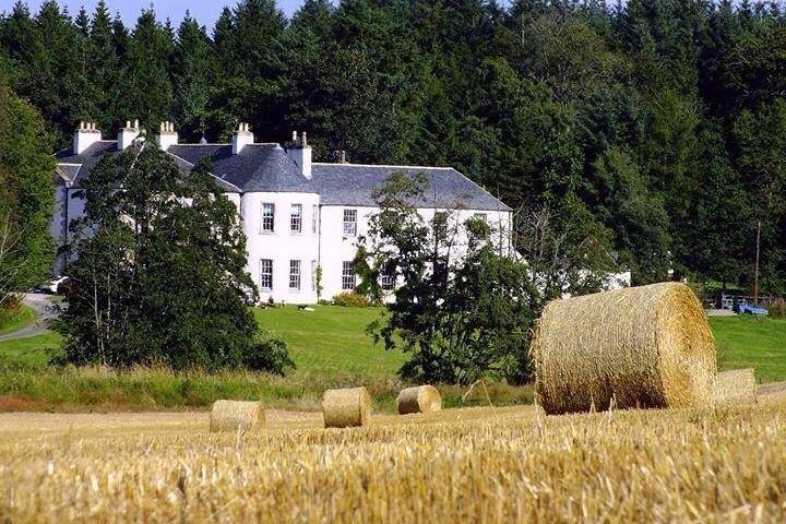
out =
[[[718,369],[754,368],[761,382],[786,380],[786,320],[711,317]]]

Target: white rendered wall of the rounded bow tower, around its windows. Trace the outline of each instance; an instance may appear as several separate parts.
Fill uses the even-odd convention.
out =
[[[262,231],[262,204],[275,205],[273,233]],[[301,231],[291,233],[289,214],[291,204],[302,205]],[[319,213],[319,195],[314,193],[245,193],[241,198],[241,215],[247,238],[248,265],[254,283],[260,285],[261,260],[273,260],[273,289],[260,287],[260,299],[270,297],[276,302],[314,303],[317,291],[312,289],[311,261],[319,261],[319,219],[317,233],[312,233],[313,207]],[[300,289],[289,289],[289,261],[300,261]],[[319,262],[318,262],[319,263]]]

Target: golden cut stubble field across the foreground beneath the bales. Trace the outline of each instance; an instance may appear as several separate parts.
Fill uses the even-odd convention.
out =
[[[545,417],[533,406],[259,433],[205,413],[0,415],[0,522],[783,522],[786,402]]]

